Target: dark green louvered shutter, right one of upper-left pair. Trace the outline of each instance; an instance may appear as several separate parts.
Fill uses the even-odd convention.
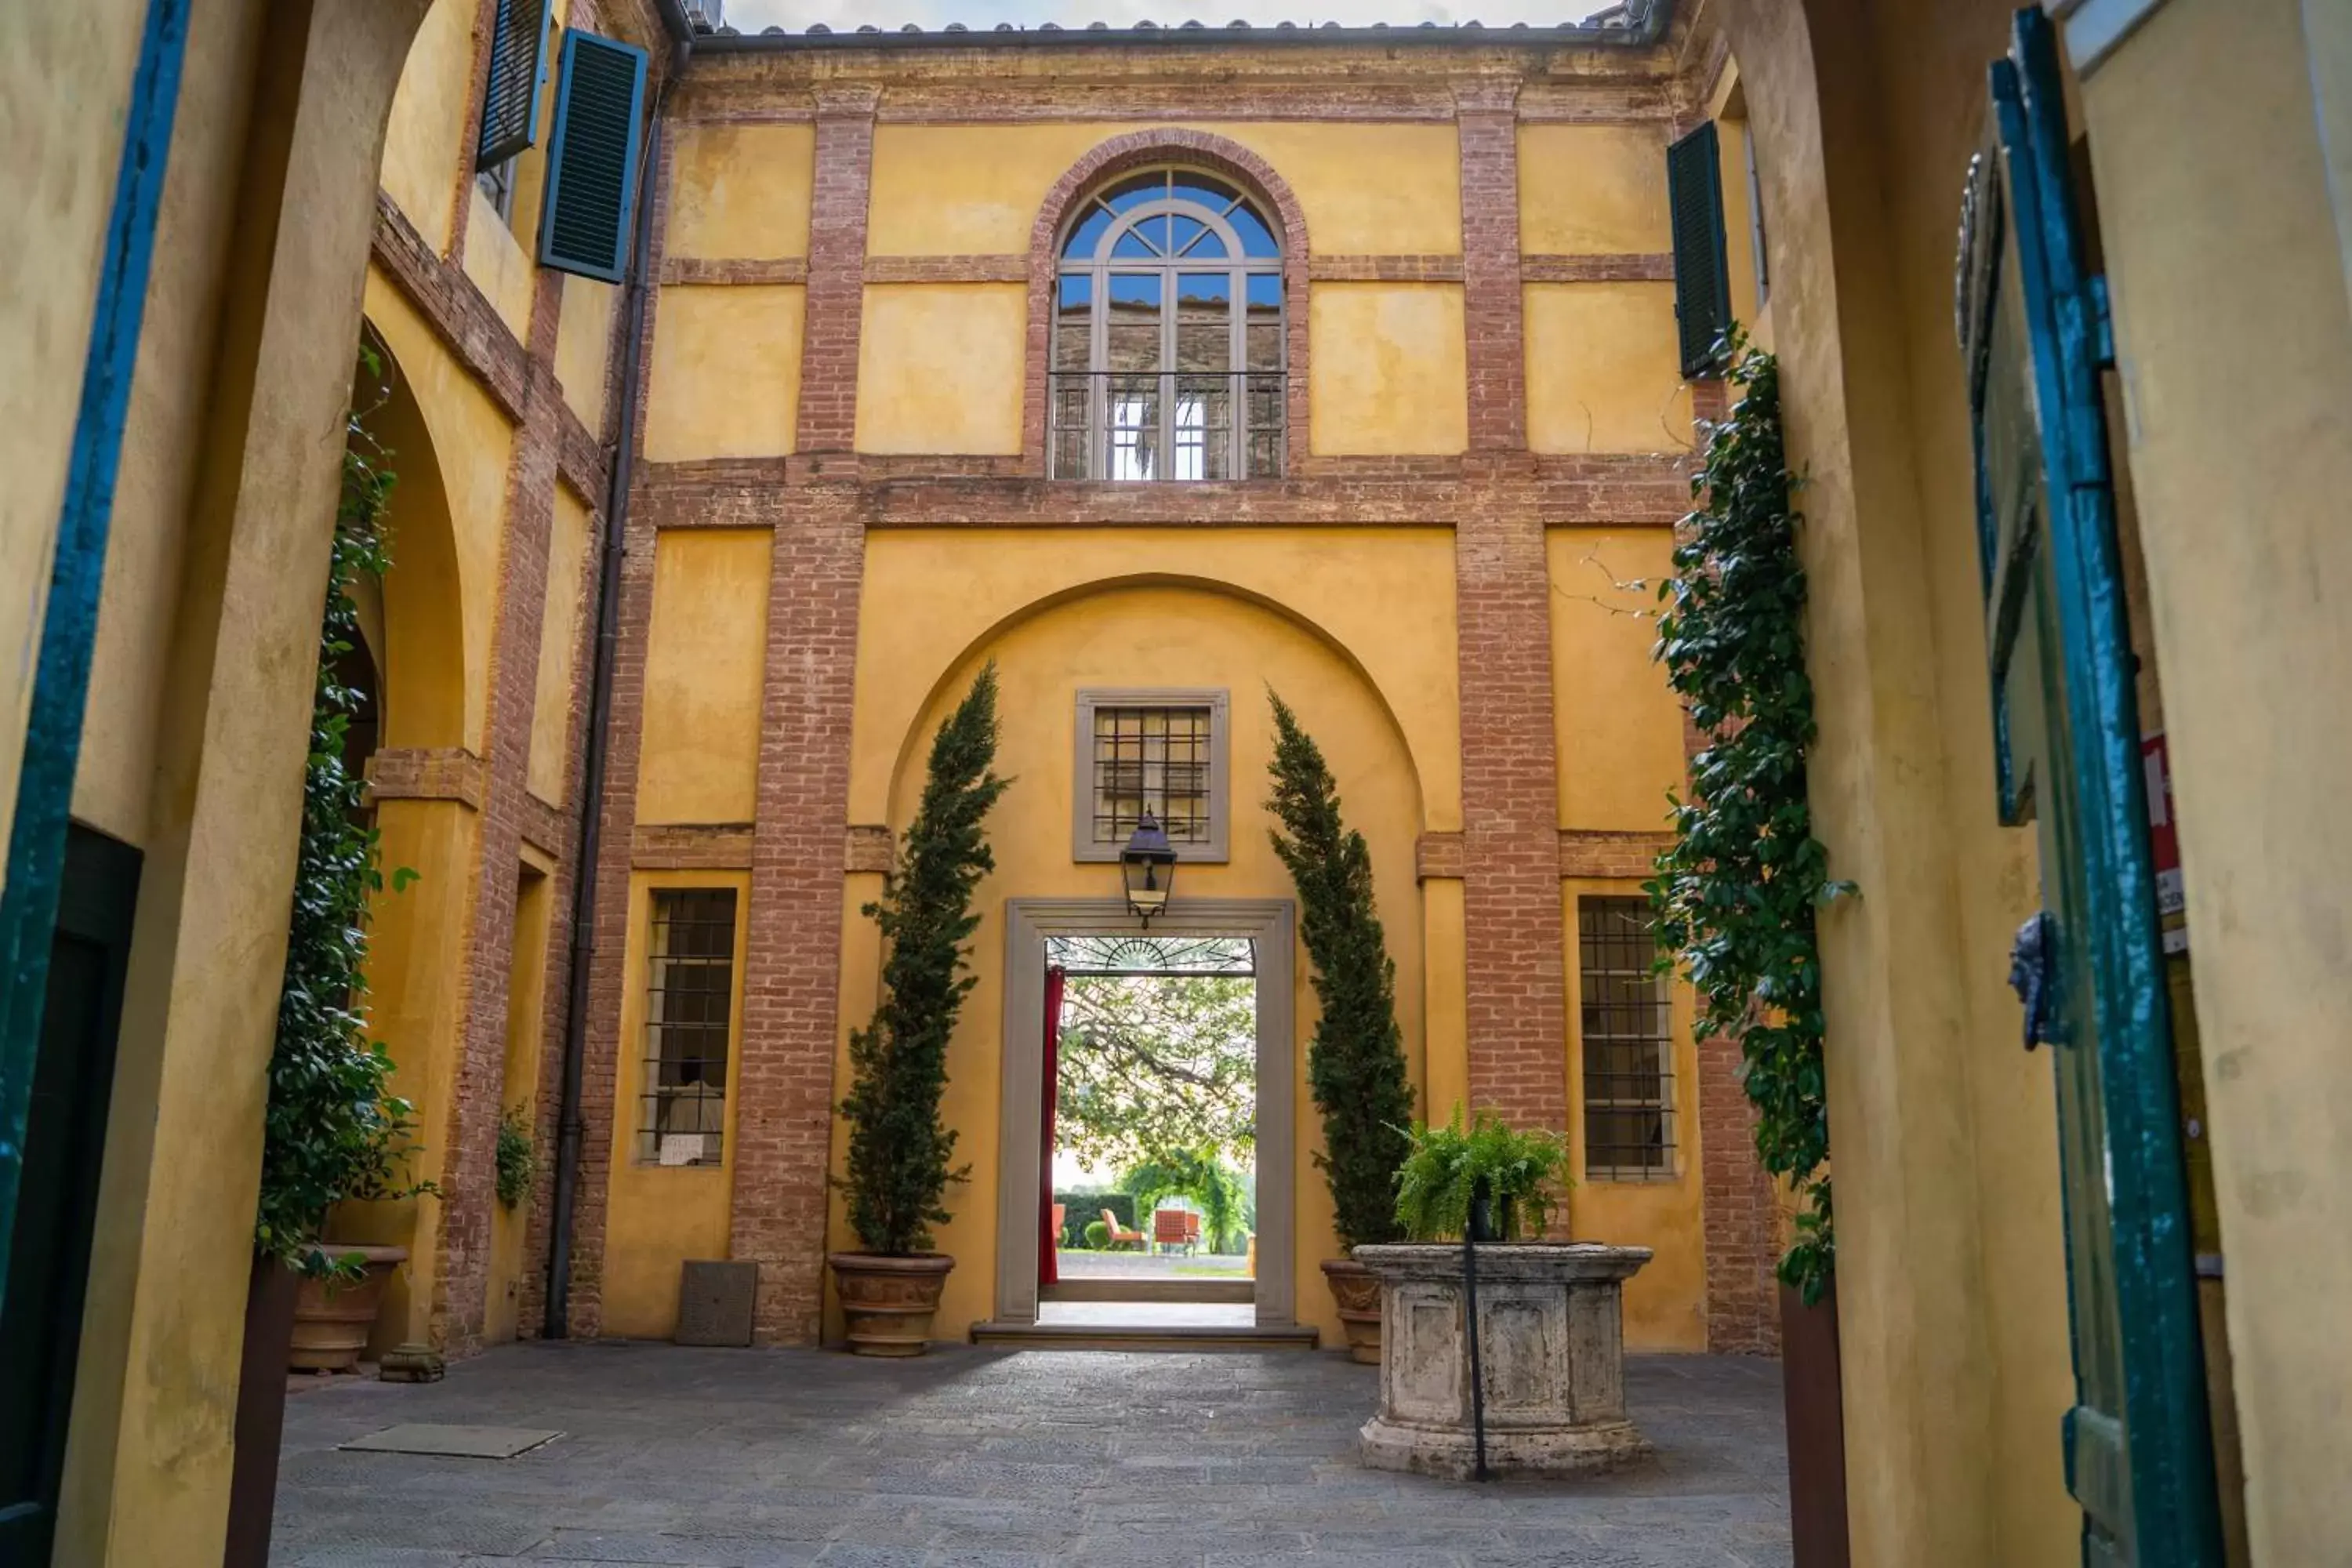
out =
[[[644,49],[564,31],[564,75],[548,134],[548,200],[539,266],[621,282],[637,197],[637,110]]]

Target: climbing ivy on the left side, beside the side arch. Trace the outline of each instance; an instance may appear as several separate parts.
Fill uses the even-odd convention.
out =
[[[381,381],[383,360],[365,346],[360,367],[362,378]],[[301,846],[254,1215],[254,1248],[308,1274],[355,1272],[318,1246],[332,1206],[433,1192],[430,1182],[405,1178],[416,1150],[416,1110],[390,1091],[393,1058],[383,1041],[367,1037],[367,905],[383,891],[383,858],[362,811],[365,780],[343,755],[365,693],[343,684],[339,665],[360,646],[353,588],[390,569],[383,527],[390,494],[386,451],[353,414],[318,635]],[[414,875],[393,872],[393,889]]]

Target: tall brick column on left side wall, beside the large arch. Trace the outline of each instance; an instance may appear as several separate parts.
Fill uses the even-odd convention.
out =
[[[489,698],[482,717],[482,820],[475,835],[473,917],[463,943],[463,1011],[442,1128],[442,1194],[433,1272],[433,1342],[447,1354],[482,1347],[489,1305],[489,1213],[496,1201],[496,1138],[506,1086],[506,994],[515,933],[515,879],[522,865],[522,809],[532,769],[532,705],[539,686],[539,623],[548,602],[548,529],[555,520],[555,463],[562,451],[562,393],[555,386],[555,327],[562,275],[539,273],[522,425],[506,470],[506,524],[499,548],[499,607],[489,642]]]

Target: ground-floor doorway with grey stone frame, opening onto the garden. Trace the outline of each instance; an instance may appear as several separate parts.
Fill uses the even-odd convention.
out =
[[[1150,931],[1115,898],[1007,903],[1007,976],[1004,976],[1004,1072],[1000,1138],[1000,1213],[997,1213],[997,1300],[1000,1324],[1117,1324],[1145,1328],[1291,1328],[1296,1324],[1296,1255],[1291,1197],[1296,1185],[1296,1048],[1294,954],[1289,900],[1183,900],[1152,919]],[[1058,969],[1058,985],[1051,973]],[[1223,1032],[1247,1027],[1249,1044],[1185,1046],[1192,1056],[1183,1072],[1209,1077],[1216,1095],[1188,1093],[1176,1074],[1167,1084],[1136,1088],[1150,1098],[1160,1124],[1192,1126],[1204,1138],[1185,1138],[1192,1147],[1148,1150],[1117,1135],[1131,1117],[1094,1114],[1087,1126],[1070,1128],[1070,1152],[1080,1145],[1091,1154],[1063,1161],[1063,1175],[1091,1173],[1101,1185],[1134,1187],[1129,1204],[1110,1206],[1127,1215],[1112,1239],[1103,1215],[1068,1213],[1054,1225],[1051,1201],[1061,1187],[1047,1138],[1047,1093],[1101,1093],[1136,1072],[1122,1051],[1101,1039],[1120,1020],[1150,1023],[1155,1001],[1167,987],[1216,983],[1185,1004],[1202,1013],[1202,1027]],[[1075,990],[1073,990],[1075,987]],[[1049,992],[1054,994],[1054,1030],[1049,1032]],[[1155,994],[1157,992],[1157,994]],[[1073,1044],[1070,1072],[1061,1063],[1047,1074],[1047,1058],[1058,1056],[1061,1027],[1089,1011],[1082,1027],[1096,1039]],[[1134,1044],[1134,1041],[1129,1041]],[[1209,1063],[1207,1058],[1216,1058]],[[1240,1060],[1237,1060],[1240,1058]],[[1169,1063],[1162,1063],[1162,1067]],[[1202,1067],[1209,1067],[1202,1072]],[[1247,1103],[1240,1098],[1247,1086]],[[1065,1095],[1056,1093],[1056,1103]],[[1136,1110],[1136,1095],[1127,1095]],[[1247,1117],[1251,1187],[1247,1194],[1211,1192],[1214,1173],[1200,1168],[1204,1145],[1223,1143],[1223,1159],[1235,1166],[1235,1126]],[[1197,1121],[1195,1121],[1197,1119]],[[1122,1154],[1138,1159],[1122,1161]],[[1141,1159],[1152,1154],[1155,1159]],[[1141,1166],[1160,1164],[1160,1171]],[[1122,1168],[1124,1166],[1124,1168]],[[1228,1171],[1230,1175],[1232,1171]],[[1120,1178],[1134,1178],[1120,1182]],[[1077,1182],[1073,1182],[1075,1187]],[[1070,1187],[1063,1187],[1068,1194]],[[1096,1194],[1087,1194],[1089,1199]],[[1143,1204],[1134,1204],[1134,1199]],[[1232,1213],[1249,1199],[1244,1215]],[[1183,1215],[1192,1215],[1188,1222]],[[1084,1246],[1087,1220],[1101,1225],[1103,1246]],[[1167,1227],[1167,1234],[1160,1234]],[[1240,1251],[1216,1251],[1223,1244]],[[1235,1229],[1242,1229],[1235,1237]],[[1075,1232],[1077,1246],[1061,1244]],[[1051,1251],[1049,1251],[1051,1237]],[[1254,1251],[1251,1251],[1254,1244]],[[1058,1255],[1056,1255],[1058,1253]],[[1061,1267],[1047,1267],[1049,1258]],[[1051,1274],[1051,1284],[1047,1276]],[[1190,1321],[1197,1319],[1197,1321]]]

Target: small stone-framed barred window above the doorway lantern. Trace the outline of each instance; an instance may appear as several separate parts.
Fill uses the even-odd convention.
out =
[[[1117,860],[1143,813],[1183,860],[1225,858],[1223,691],[1077,693],[1077,860]]]

